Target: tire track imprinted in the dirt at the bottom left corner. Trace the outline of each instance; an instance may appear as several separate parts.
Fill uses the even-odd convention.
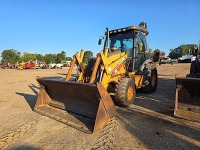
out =
[[[15,139],[23,136],[28,130],[33,128],[37,122],[33,122],[29,125],[24,125],[19,129],[9,131],[6,135],[0,137],[0,149],[6,148],[9,143],[13,142]]]

